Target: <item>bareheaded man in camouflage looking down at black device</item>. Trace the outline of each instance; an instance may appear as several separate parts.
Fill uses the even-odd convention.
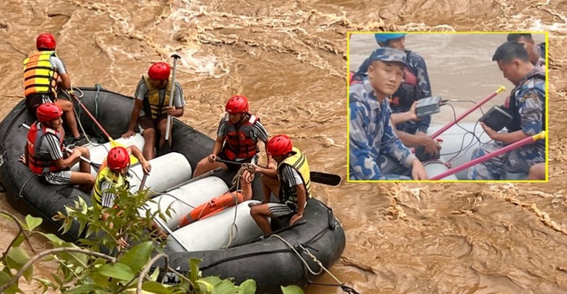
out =
[[[545,72],[534,67],[524,45],[515,41],[500,45],[492,60],[498,63],[498,68],[503,72],[504,77],[515,86],[510,94],[510,105],[507,107],[508,113],[512,115],[512,122],[506,126],[507,132],[497,132],[481,123],[486,135],[493,142],[475,149],[471,160],[545,130]],[[545,162],[545,140],[523,145],[476,164],[468,169],[468,179],[499,180],[505,171],[527,173],[531,166],[541,162]]]

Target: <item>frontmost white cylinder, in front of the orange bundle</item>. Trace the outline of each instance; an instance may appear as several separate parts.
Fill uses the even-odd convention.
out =
[[[173,232],[175,238],[169,236],[167,247],[176,252],[185,251],[176,242],[183,242],[189,251],[215,250],[245,244],[264,234],[250,215],[249,203],[259,203],[257,200],[248,200],[237,206],[232,206],[211,217],[193,222],[191,225],[181,227]],[[235,220],[236,213],[236,220]],[[232,222],[235,225],[232,225]],[[238,230],[236,230],[238,228]],[[232,242],[230,232],[232,231]]]

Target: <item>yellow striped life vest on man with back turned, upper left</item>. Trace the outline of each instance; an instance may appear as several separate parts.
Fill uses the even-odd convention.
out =
[[[23,60],[24,96],[32,94],[51,94],[57,97],[57,78],[59,74],[51,65],[50,57],[55,51],[38,51]]]

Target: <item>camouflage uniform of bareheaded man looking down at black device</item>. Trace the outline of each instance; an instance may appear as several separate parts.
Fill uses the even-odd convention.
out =
[[[515,106],[512,107],[512,123],[507,125],[508,132],[522,130],[525,135],[533,136],[545,129],[545,79],[538,73],[541,73],[539,69],[534,68],[512,90],[510,98]],[[505,143],[496,141],[481,145],[473,152],[472,159],[502,147]],[[527,173],[530,166],[544,161],[545,140],[539,140],[471,167],[468,179],[498,180],[505,171]]]

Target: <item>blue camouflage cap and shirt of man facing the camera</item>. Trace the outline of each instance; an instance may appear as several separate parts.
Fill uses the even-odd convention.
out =
[[[400,50],[379,48],[371,60],[405,62],[405,55]],[[367,77],[350,87],[349,111],[350,179],[411,179],[410,164],[415,156],[395,135],[387,99],[378,102]]]

